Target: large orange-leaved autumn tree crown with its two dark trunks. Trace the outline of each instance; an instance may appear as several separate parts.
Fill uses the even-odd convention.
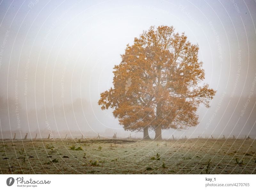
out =
[[[101,109],[113,115],[125,130],[148,128],[162,139],[162,129],[187,129],[198,124],[197,107],[209,106],[216,91],[204,80],[197,44],[173,27],[150,27],[134,44],[127,45],[122,61],[114,67],[114,87],[100,94]]]

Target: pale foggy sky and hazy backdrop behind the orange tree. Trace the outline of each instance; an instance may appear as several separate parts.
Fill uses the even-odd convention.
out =
[[[173,26],[198,44],[204,83],[217,90],[209,109],[198,108],[198,126],[163,138],[255,138],[255,9],[255,1],[238,0],[2,1],[0,138],[143,137],[97,102],[126,44],[152,25]]]

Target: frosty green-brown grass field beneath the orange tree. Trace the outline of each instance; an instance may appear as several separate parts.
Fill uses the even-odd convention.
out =
[[[253,139],[2,140],[2,174],[256,174]]]

